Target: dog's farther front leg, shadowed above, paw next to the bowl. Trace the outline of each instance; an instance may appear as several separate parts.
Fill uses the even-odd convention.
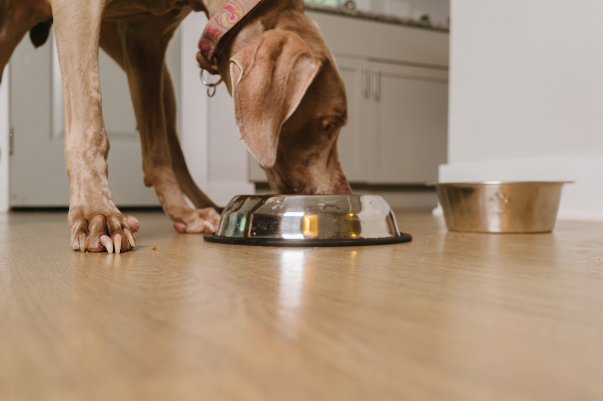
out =
[[[128,75],[142,143],[145,184],[153,185],[163,210],[174,222],[175,229],[182,232],[213,232],[219,222],[219,214],[211,207],[213,204],[207,197],[200,198],[197,201],[207,207],[192,210],[186,204],[172,164],[170,151],[174,153],[174,147],[178,146],[179,150],[180,145],[173,138],[171,143],[168,140],[168,129],[173,128],[175,135],[175,104],[170,103],[168,96],[168,111],[171,114],[166,116],[164,89],[168,90],[167,95],[172,94],[172,89],[171,85],[165,87],[164,60],[169,40],[178,22],[180,21],[150,16],[119,23],[119,36],[124,48],[124,68]],[[170,149],[170,145],[174,149]],[[186,166],[183,168],[186,169]]]

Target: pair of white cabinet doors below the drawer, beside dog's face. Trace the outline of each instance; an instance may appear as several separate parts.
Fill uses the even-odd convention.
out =
[[[446,163],[447,71],[336,58],[349,122],[338,150],[350,182],[437,181]]]

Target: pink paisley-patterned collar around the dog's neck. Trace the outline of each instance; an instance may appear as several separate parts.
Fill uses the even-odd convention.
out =
[[[197,63],[210,74],[218,73],[218,56],[226,47],[232,28],[264,0],[230,0],[207,22],[199,40]]]

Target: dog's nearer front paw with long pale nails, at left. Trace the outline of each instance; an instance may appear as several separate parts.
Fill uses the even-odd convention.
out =
[[[136,218],[119,212],[84,216],[69,211],[69,226],[74,250],[120,253],[136,246],[134,232],[140,224]]]

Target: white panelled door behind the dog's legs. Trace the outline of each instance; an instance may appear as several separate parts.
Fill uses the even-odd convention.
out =
[[[180,32],[166,56],[180,99]],[[104,121],[109,134],[109,184],[118,207],[159,205],[143,184],[140,140],[125,73],[103,51],[99,68]],[[65,171],[65,128],[60,70],[54,37],[34,49],[28,36],[14,51],[10,67],[11,207],[69,205]]]

